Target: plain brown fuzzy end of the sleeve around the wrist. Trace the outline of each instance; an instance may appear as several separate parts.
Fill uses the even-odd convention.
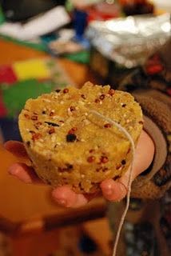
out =
[[[155,155],[149,170],[132,186],[133,198],[160,198],[171,186],[171,99],[157,90],[136,91],[144,112],[144,130],[153,139]]]

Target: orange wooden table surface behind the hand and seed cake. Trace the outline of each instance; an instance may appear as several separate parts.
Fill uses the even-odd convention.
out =
[[[46,57],[46,54],[18,46],[13,42],[0,40],[0,65],[10,64],[18,60]],[[76,86],[81,86],[87,80],[93,80],[87,66],[58,59]],[[47,186],[25,185],[7,174],[8,167],[18,161],[0,144],[0,230],[13,230],[13,225],[20,225],[20,231],[42,229],[49,223],[49,228],[61,226],[70,222],[82,222],[83,219],[101,217],[105,213],[105,201],[94,199],[87,206],[79,210],[65,209],[56,205],[50,197]],[[29,223],[29,224],[28,224]],[[34,223],[33,225],[30,223]],[[12,225],[12,227],[11,227]]]

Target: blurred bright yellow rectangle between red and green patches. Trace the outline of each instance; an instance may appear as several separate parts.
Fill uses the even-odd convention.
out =
[[[26,80],[30,78],[42,79],[50,77],[50,70],[46,66],[46,62],[42,59],[15,62],[13,69],[18,80]]]

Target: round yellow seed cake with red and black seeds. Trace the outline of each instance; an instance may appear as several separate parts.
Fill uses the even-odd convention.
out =
[[[119,123],[136,144],[141,107],[131,94],[85,83],[29,99],[19,116],[27,153],[39,178],[52,186],[69,184],[94,193],[105,178],[117,180],[132,161],[128,138],[92,110]]]

